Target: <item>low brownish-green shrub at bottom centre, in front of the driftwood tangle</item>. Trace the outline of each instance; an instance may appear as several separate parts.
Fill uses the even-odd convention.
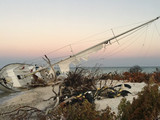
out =
[[[107,107],[105,110],[96,111],[95,105],[85,100],[82,104],[75,103],[68,105],[64,108],[60,108],[59,116],[63,115],[67,120],[115,120],[116,116],[114,112],[111,112],[111,108]],[[58,118],[60,119],[60,117]]]

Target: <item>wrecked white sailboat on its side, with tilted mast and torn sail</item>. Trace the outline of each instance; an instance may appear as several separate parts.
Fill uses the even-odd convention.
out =
[[[105,48],[107,45],[111,45],[113,43],[118,42],[117,38],[124,35],[128,36],[140,30],[144,26],[154,22],[155,20],[159,19],[159,17],[152,19],[146,23],[143,23],[137,27],[129,29],[119,35],[114,35],[112,38],[105,40],[99,44],[96,44],[86,50],[83,50],[77,54],[74,54],[64,60],[58,61],[56,63],[51,64],[50,60],[46,57],[45,61],[48,63],[47,67],[35,67],[33,65],[26,65],[26,64],[10,64],[3,67],[0,71],[0,89],[6,91],[17,91],[17,88],[27,87],[33,81],[44,81],[50,79],[55,79],[56,74],[54,67],[56,65],[59,66],[61,73],[66,73],[69,71],[69,65],[72,64],[79,64],[82,60],[87,60],[89,55],[95,53],[102,48]],[[121,38],[122,39],[122,38]],[[23,68],[23,69],[22,69]]]

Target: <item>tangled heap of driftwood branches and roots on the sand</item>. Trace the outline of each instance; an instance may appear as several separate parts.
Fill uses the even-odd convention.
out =
[[[74,102],[81,103],[85,99],[93,103],[95,99],[98,99],[99,96],[106,92],[105,90],[108,90],[106,86],[101,86],[100,89],[97,89],[97,81],[101,82],[98,75],[92,72],[88,74],[85,69],[76,68],[75,71],[68,73],[68,77],[64,81],[59,81],[52,85],[52,91],[55,95],[44,101],[53,99],[54,103],[45,110],[23,106],[1,115],[9,115],[13,120],[36,120],[36,117],[40,118],[40,120],[54,120],[57,118],[56,111],[59,108],[65,107],[68,104],[74,104]],[[54,86],[57,84],[59,85],[58,93],[54,90]]]

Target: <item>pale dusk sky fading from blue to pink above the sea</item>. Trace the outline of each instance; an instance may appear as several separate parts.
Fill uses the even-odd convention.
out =
[[[159,6],[159,0],[0,0],[0,68],[73,55],[160,16]],[[160,19],[83,64],[160,66],[159,45]]]

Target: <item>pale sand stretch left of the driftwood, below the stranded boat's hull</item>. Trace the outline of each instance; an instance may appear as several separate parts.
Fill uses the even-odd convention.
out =
[[[56,86],[55,89],[57,89]],[[53,103],[52,99],[49,101],[44,100],[52,96],[54,96],[54,93],[52,92],[52,86],[37,87],[4,101],[0,105],[0,113],[13,111],[21,106],[31,106],[40,110],[44,110]],[[0,116],[0,120],[7,119],[5,117],[6,116]]]

